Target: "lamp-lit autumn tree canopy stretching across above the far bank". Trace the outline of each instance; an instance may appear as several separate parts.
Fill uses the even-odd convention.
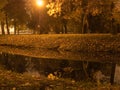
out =
[[[120,28],[119,0],[8,1],[0,0],[0,9],[3,10],[0,20],[5,20],[6,13],[8,20],[14,19],[19,24],[25,22],[37,33],[40,28],[41,33],[50,30],[57,33],[110,33],[114,31],[112,28]]]

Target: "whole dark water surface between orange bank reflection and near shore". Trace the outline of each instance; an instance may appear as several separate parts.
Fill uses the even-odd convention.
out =
[[[2,52],[0,54],[0,64],[4,65],[8,70],[17,73],[28,73],[38,77],[39,75],[47,77],[52,73],[58,77],[70,78],[75,81],[87,80],[89,78],[90,80],[120,84],[119,60],[117,58],[116,61],[112,61],[110,60],[111,56],[106,56],[105,61],[98,58],[95,58],[96,60],[82,60],[82,58],[80,60],[69,60],[66,58],[38,58]],[[88,59],[94,59],[94,57],[97,56],[87,56]],[[106,60],[107,58],[109,59],[108,61]]]

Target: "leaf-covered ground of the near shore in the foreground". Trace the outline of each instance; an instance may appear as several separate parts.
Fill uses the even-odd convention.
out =
[[[44,76],[18,74],[0,65],[0,90],[120,90],[119,85],[75,82],[70,79],[51,80]]]

